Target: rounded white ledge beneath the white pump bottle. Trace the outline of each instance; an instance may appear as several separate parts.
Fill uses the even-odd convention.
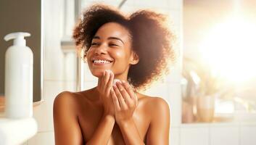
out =
[[[36,135],[38,126],[33,117],[24,119],[0,118],[0,144],[22,144]]]

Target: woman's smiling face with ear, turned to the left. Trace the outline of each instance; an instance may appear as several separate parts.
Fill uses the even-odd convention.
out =
[[[129,65],[138,61],[131,51],[128,30],[116,22],[108,22],[97,30],[87,52],[91,73],[102,76],[104,70],[112,70],[115,78],[127,79]]]

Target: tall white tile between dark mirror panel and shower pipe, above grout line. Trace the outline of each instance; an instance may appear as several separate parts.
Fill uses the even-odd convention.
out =
[[[56,7],[58,6],[58,7]],[[63,31],[63,0],[44,1],[44,79],[63,79],[63,53],[60,40]]]

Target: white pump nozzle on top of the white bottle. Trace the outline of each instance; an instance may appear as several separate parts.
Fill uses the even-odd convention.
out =
[[[24,37],[30,36],[30,33],[25,33],[25,32],[18,32],[18,33],[9,33],[7,36],[4,36],[5,41],[9,41],[11,39],[14,40],[14,45],[17,46],[26,46],[26,41]]]

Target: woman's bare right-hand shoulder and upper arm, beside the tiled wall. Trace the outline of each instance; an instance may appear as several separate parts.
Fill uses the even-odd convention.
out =
[[[154,98],[150,105],[152,120],[146,135],[146,144],[169,144],[170,109],[162,98]]]

